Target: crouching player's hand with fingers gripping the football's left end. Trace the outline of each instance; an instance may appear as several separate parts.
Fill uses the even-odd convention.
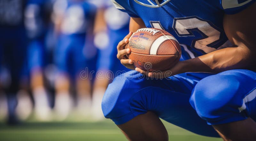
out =
[[[130,48],[126,48],[125,46],[129,42],[129,38],[132,36],[132,32],[124,37],[122,41],[120,41],[117,45],[117,55],[116,57],[120,60],[120,62],[128,69],[134,70],[134,65],[132,64],[132,60],[127,58],[127,54],[131,53]]]

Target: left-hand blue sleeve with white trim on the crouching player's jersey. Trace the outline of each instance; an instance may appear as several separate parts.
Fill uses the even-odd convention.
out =
[[[138,14],[132,10],[128,0],[111,0],[120,11],[126,12],[130,17],[139,18]]]

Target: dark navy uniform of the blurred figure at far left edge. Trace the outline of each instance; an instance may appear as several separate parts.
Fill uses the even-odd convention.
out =
[[[3,0],[0,3],[0,66],[11,73],[11,91],[17,91],[18,81],[26,65],[26,34],[23,25],[25,1]]]

